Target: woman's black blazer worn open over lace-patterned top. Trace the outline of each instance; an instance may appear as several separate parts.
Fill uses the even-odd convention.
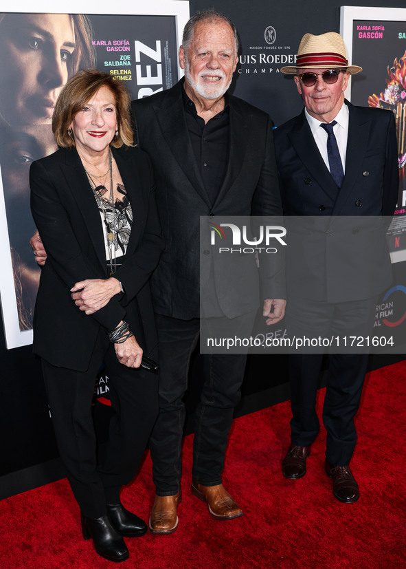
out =
[[[84,279],[106,279],[100,212],[76,149],[60,149],[32,163],[31,208],[47,252],[34,313],[34,352],[56,366],[87,369],[102,326],[125,319],[146,354],[157,344],[148,279],[163,248],[148,156],[136,148],[112,148],[133,226],[124,264],[115,277],[125,294],[87,316],[69,290]],[[144,339],[144,341],[143,341]]]

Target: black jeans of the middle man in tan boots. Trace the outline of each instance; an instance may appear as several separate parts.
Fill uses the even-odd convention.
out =
[[[240,316],[247,320],[252,316]],[[157,314],[159,334],[159,416],[150,437],[157,495],[176,494],[181,484],[183,395],[190,356],[199,339],[199,319]],[[195,413],[192,476],[204,486],[221,484],[225,447],[234,407],[240,400],[247,354],[203,355],[204,383]]]

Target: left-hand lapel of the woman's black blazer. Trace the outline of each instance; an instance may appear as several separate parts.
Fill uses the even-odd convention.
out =
[[[105,270],[104,239],[100,224],[100,213],[95,203],[93,191],[91,191],[89,180],[76,149],[66,149],[65,156],[65,163],[61,164],[61,169],[87,225],[89,237],[93,242],[98,260]]]

